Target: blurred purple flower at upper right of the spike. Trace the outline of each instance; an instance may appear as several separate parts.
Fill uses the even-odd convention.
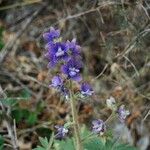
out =
[[[80,55],[81,47],[79,45],[77,45],[76,39],[73,39],[71,42],[67,41],[66,44],[68,45],[72,56]]]

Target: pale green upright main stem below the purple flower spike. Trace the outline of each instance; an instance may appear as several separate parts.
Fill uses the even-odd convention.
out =
[[[80,128],[79,128],[79,123],[78,123],[76,103],[75,103],[75,99],[73,98],[71,91],[70,91],[70,105],[71,105],[71,113],[72,113],[72,119],[73,119],[74,136],[75,136],[75,141],[76,141],[75,147],[76,147],[76,150],[83,150],[82,144],[81,144]]]

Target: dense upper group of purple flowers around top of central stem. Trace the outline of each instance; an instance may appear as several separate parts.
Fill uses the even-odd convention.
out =
[[[43,34],[43,38],[47,42],[45,56],[49,60],[48,66],[55,68],[60,64],[60,72],[65,75],[66,79],[80,82],[82,80],[80,73],[83,63],[81,59],[81,47],[77,44],[76,39],[63,42],[60,37],[60,30],[56,30],[53,27],[50,28],[50,31]],[[50,87],[56,88],[65,97],[68,97],[68,90],[61,75],[52,78]],[[89,84],[83,83],[80,93],[82,96],[91,96],[93,90]]]

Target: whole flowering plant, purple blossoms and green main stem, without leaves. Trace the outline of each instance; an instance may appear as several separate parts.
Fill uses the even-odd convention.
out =
[[[48,67],[51,70],[56,67],[59,68],[59,74],[52,78],[49,87],[56,89],[61,95],[64,96],[67,102],[70,103],[72,115],[72,121],[70,123],[66,123],[69,125],[65,124],[55,126],[55,129],[57,130],[55,138],[60,140],[66,139],[70,131],[70,126],[73,126],[75,149],[83,150],[86,148],[88,150],[86,145],[83,143],[84,139],[82,138],[82,132],[78,122],[76,106],[78,98],[88,98],[94,94],[94,90],[89,83],[83,81],[81,74],[81,70],[83,68],[81,47],[78,45],[76,39],[72,39],[71,41],[63,41],[60,36],[60,30],[54,29],[53,27],[51,27],[48,32],[43,34],[43,38],[46,41],[45,56],[49,61]],[[73,90],[73,82],[76,82],[80,86],[79,92],[77,93]],[[106,104],[108,108],[118,113],[119,120],[121,122],[125,121],[127,115],[129,115],[129,112],[125,110],[124,106],[120,106],[117,110],[116,101],[113,97],[107,99]],[[106,121],[101,119],[93,120],[91,127],[92,134],[90,133],[89,135],[102,136],[106,132]],[[63,147],[66,147],[66,145],[63,145]],[[72,145],[70,147],[72,147]],[[101,146],[99,145],[98,147]],[[69,148],[69,144],[67,148]]]

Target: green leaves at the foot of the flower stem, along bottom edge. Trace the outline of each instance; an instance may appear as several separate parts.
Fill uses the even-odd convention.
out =
[[[90,136],[89,136],[90,135]],[[110,139],[106,137],[99,137],[93,135],[85,127],[81,129],[81,137],[83,141],[84,150],[136,150],[128,144],[120,143],[117,139]],[[34,150],[48,150],[48,139],[40,138],[41,146],[38,146]],[[75,150],[74,139],[66,138],[65,140],[54,140],[53,150]]]

